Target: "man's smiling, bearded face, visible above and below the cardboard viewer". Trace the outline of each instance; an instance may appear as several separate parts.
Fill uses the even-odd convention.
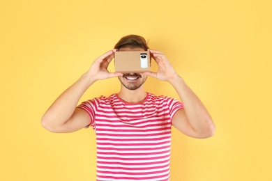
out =
[[[130,47],[123,47],[119,49],[119,52],[126,52],[126,51],[144,51],[142,48],[130,48]],[[123,76],[118,77],[119,81],[121,81],[121,84],[128,88],[128,90],[136,90],[147,79],[147,75],[139,74],[139,73],[126,73],[123,74]]]

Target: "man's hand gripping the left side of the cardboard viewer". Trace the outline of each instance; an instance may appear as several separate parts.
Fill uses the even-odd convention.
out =
[[[86,74],[88,74],[88,77],[93,81],[97,81],[122,76],[122,73],[109,72],[107,70],[109,63],[112,61],[112,58],[114,58],[114,52],[116,51],[117,49],[112,49],[109,52],[103,54],[102,56],[96,58],[96,60],[91,65],[89,71],[86,72]]]

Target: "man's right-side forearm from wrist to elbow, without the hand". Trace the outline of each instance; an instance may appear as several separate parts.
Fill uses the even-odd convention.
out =
[[[213,134],[215,125],[204,104],[199,100],[199,97],[195,95],[179,75],[176,75],[169,83],[172,84],[178,93],[192,129],[199,134],[207,132]]]

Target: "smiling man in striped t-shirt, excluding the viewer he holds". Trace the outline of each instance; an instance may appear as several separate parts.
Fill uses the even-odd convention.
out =
[[[149,50],[158,72],[108,72],[116,51]],[[144,91],[148,76],[168,81],[179,102]],[[118,77],[121,90],[109,97],[82,102],[95,82]],[[88,72],[64,91],[42,118],[51,132],[75,132],[93,127],[97,145],[97,180],[169,180],[171,126],[199,139],[215,132],[213,120],[197,95],[176,73],[162,52],[150,50],[141,36],[125,36],[114,49],[96,58]]]

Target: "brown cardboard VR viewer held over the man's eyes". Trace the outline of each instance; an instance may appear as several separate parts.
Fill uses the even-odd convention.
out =
[[[114,52],[115,72],[141,73],[150,71],[149,51]]]

